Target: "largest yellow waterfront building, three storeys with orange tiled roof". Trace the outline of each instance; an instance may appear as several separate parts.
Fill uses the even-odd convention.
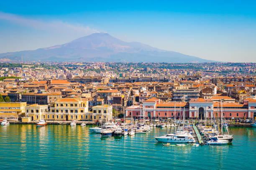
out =
[[[50,108],[46,120],[86,120],[87,114],[88,101],[85,98],[62,98]]]

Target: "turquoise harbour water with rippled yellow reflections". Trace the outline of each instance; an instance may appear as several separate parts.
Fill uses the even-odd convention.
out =
[[[163,146],[147,135],[100,138],[90,127],[0,126],[1,169],[255,169],[256,128],[230,128],[232,145]]]

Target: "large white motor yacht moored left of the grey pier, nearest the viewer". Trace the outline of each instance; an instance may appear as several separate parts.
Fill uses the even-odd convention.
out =
[[[194,137],[189,133],[181,133],[181,134],[167,134],[160,137],[155,137],[158,142],[166,142],[166,143],[195,143]]]

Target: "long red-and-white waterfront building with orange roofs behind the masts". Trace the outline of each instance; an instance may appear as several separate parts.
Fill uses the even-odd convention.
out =
[[[204,120],[205,117],[221,117],[222,106],[225,119],[256,117],[256,100],[246,99],[243,103],[238,103],[226,102],[225,99],[225,96],[220,96],[218,101],[198,98],[189,102],[161,102],[160,99],[151,98],[143,101],[141,105],[126,107],[125,116],[134,119],[167,119],[176,116],[179,119],[184,112],[186,118]]]

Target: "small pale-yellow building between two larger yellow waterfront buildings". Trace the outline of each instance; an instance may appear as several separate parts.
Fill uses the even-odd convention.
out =
[[[30,120],[41,120],[41,119],[46,119],[47,116],[47,110],[48,106],[47,105],[38,105],[38,104],[33,104],[25,107],[26,110],[26,117],[30,117]]]

